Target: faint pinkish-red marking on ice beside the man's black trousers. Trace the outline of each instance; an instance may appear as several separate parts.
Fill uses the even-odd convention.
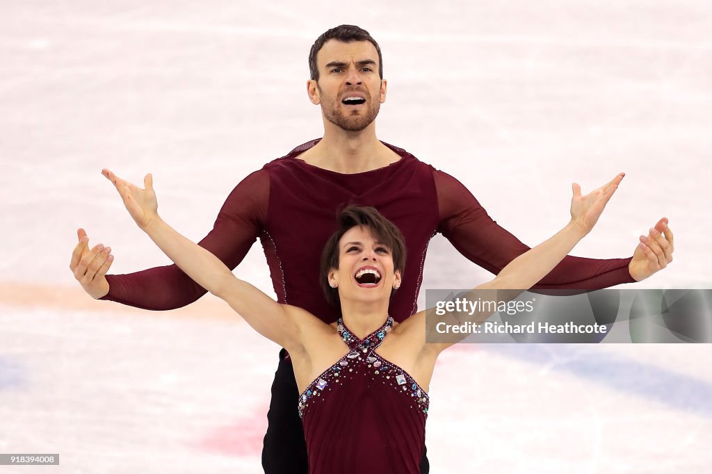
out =
[[[224,455],[260,455],[267,429],[268,408],[268,405],[258,407],[251,410],[250,416],[239,418],[230,426],[215,428],[198,441],[198,448]]]

